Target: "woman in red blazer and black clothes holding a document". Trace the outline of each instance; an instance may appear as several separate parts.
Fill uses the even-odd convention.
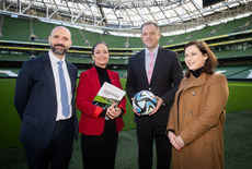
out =
[[[98,43],[92,49],[94,67],[80,74],[76,104],[82,112],[79,122],[83,168],[110,168],[115,165],[118,132],[124,128],[126,99],[117,107],[103,109],[92,104],[104,82],[122,88],[117,72],[106,69],[110,59],[108,48]],[[105,118],[110,118],[105,120]]]

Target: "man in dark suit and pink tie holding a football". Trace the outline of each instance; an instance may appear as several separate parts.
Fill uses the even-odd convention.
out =
[[[126,92],[129,99],[140,90],[150,90],[157,97],[156,110],[140,116],[135,110],[138,138],[139,169],[151,169],[153,140],[157,147],[157,168],[170,168],[171,144],[165,126],[175,92],[183,76],[175,52],[159,47],[159,26],[147,22],[141,26],[145,50],[129,58]]]

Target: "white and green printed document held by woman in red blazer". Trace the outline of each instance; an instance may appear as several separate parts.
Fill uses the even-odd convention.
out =
[[[93,105],[103,109],[110,107],[112,104],[119,104],[123,99],[125,92],[110,83],[104,83],[93,99]]]

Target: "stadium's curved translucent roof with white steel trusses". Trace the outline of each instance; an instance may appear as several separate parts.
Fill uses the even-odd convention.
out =
[[[139,36],[146,21],[170,35],[251,14],[252,0],[217,1],[203,8],[203,0],[3,0],[0,14],[125,36]]]

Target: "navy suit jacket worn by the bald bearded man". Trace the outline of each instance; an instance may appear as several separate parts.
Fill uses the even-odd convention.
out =
[[[66,61],[71,81],[75,137],[78,120],[75,106],[77,68]],[[25,61],[16,79],[14,105],[22,120],[20,141],[28,147],[46,148],[51,140],[57,116],[55,80],[48,53]]]

